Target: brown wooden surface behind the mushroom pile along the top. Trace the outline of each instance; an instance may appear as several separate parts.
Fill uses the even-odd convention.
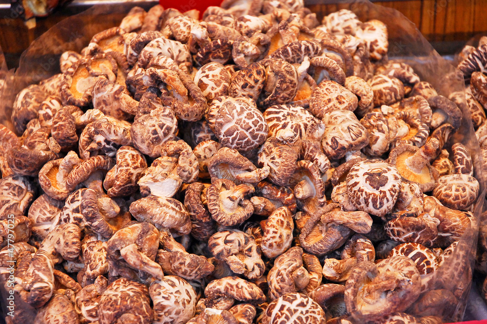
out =
[[[0,4],[8,0],[0,0]],[[305,0],[305,4],[318,18],[350,8],[350,3],[339,0]],[[350,1],[347,1],[350,2]],[[454,54],[468,39],[487,34],[487,0],[403,0],[373,1],[394,8],[410,19],[440,54]],[[91,3],[94,3],[92,1]],[[327,4],[322,4],[327,3]],[[37,19],[37,26],[28,29],[15,13],[8,9],[0,12],[0,46],[9,68],[16,67],[20,54],[29,44],[62,19],[79,12],[73,4],[65,6],[47,18]],[[118,17],[117,17],[118,19]],[[112,26],[106,17],[100,24]]]

